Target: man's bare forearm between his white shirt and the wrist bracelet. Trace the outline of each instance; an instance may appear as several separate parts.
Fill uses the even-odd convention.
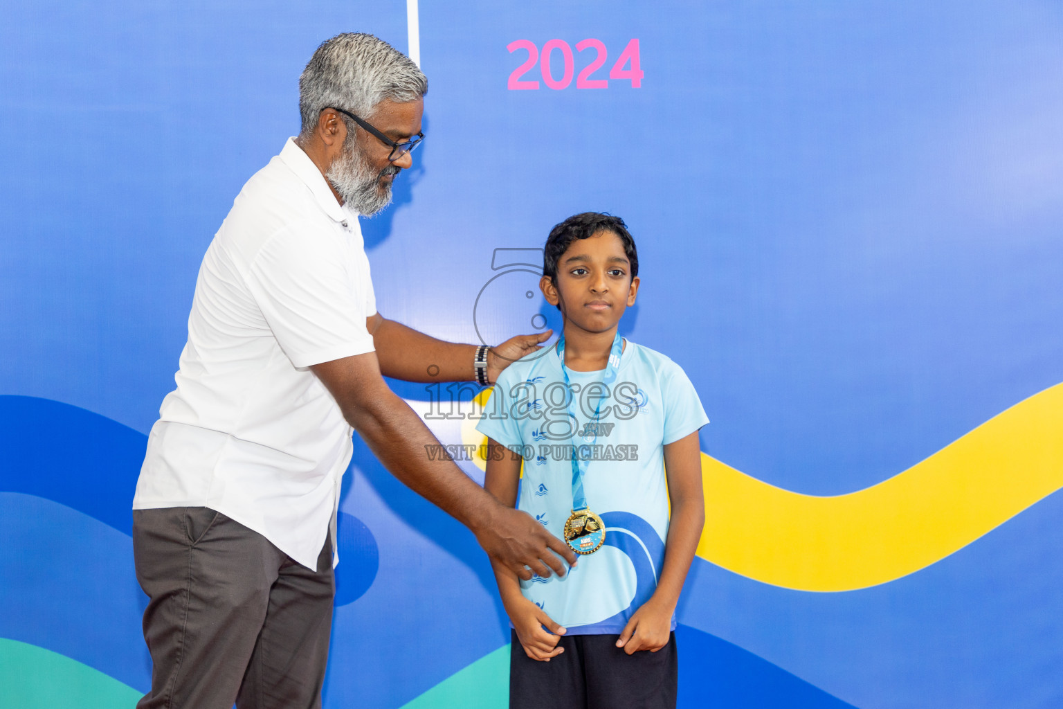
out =
[[[474,344],[436,339],[393,320],[373,333],[381,373],[406,382],[468,382],[475,378]]]

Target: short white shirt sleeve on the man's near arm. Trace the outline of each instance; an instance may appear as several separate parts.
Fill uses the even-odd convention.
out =
[[[330,235],[307,232],[275,235],[248,272],[248,287],[273,336],[296,367],[372,352],[368,261],[358,264]]]

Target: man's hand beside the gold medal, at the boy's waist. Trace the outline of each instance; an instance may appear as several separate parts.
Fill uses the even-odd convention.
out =
[[[473,534],[492,561],[524,580],[529,580],[533,573],[550,578],[551,569],[563,576],[561,558],[569,564],[576,562],[575,552],[530,514],[502,504],[494,505],[487,523],[474,528]]]

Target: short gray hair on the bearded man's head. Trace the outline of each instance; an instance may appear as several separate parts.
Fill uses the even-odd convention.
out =
[[[338,34],[321,43],[299,78],[301,135],[314,132],[324,108],[364,118],[385,99],[406,103],[427,92],[425,75],[388,43],[371,34]]]

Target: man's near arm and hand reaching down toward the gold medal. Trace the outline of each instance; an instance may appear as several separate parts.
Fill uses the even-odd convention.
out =
[[[549,577],[550,569],[563,576],[559,556],[575,562],[572,550],[529,514],[499,503],[453,461],[429,458],[426,446],[439,445],[439,441],[384,383],[375,352],[310,369],[384,467],[469,527],[493,561],[524,579],[532,578],[533,572]]]

